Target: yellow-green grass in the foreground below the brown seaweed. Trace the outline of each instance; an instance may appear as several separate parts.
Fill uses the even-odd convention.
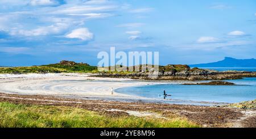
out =
[[[26,106],[23,104],[0,103],[0,127],[199,127],[187,119],[154,119],[150,117],[110,117],[81,108],[63,106]]]

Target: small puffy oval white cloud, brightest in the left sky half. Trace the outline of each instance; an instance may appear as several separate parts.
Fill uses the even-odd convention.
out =
[[[71,33],[66,35],[68,38],[76,38],[81,40],[92,40],[93,39],[93,33],[88,30],[88,28],[77,28],[76,30],[73,30]]]

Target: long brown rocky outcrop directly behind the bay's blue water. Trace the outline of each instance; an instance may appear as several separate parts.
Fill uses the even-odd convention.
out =
[[[203,80],[225,80],[225,79],[240,79],[243,77],[256,77],[256,72],[248,71],[232,71],[218,72],[210,70],[184,70],[184,71],[159,71],[157,78],[148,78],[147,72],[133,73],[114,73],[101,72],[93,75],[95,77],[110,77],[110,78],[133,78],[133,79],[148,79],[148,80],[182,80],[182,81],[203,81]]]

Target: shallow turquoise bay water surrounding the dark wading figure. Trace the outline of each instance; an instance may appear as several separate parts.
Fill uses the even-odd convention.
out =
[[[256,99],[256,78],[230,80],[237,86],[200,86],[200,85],[147,85],[125,87],[116,92],[163,99],[159,94],[166,90],[166,99],[193,100],[205,102],[236,103]]]

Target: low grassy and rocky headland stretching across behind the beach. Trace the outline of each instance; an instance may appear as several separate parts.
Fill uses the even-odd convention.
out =
[[[225,58],[226,59],[226,58]],[[142,65],[138,65],[142,69]],[[110,67],[106,67],[110,69]],[[129,69],[129,67],[123,67]],[[135,66],[130,67],[135,69]],[[188,65],[159,66],[157,78],[149,78],[151,71],[99,71],[97,66],[74,61],[60,61],[56,64],[22,67],[0,67],[0,74],[28,74],[28,73],[92,73],[94,77],[108,78],[132,78],[147,80],[171,80],[171,81],[201,81],[201,80],[225,80],[241,79],[243,77],[256,77],[255,71],[217,71],[200,68],[190,68]]]

